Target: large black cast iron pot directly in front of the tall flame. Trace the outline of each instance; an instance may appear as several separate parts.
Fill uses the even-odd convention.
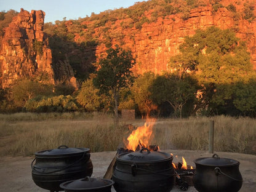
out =
[[[169,192],[174,186],[172,155],[149,151],[119,154],[113,172],[114,189],[118,192]]]

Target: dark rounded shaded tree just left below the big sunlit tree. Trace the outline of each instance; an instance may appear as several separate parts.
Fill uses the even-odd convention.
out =
[[[198,84],[191,76],[183,74],[165,74],[158,76],[150,87],[153,101],[160,105],[168,102],[174,109],[175,116],[182,118],[183,106],[195,100]]]

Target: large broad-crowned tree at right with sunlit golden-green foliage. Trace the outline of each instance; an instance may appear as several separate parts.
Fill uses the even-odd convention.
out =
[[[232,102],[231,85],[248,79],[253,71],[246,44],[239,41],[233,31],[220,30],[215,26],[197,30],[192,37],[186,36],[180,46],[180,54],[171,57],[169,64],[170,70],[175,69],[180,74],[195,74],[203,86],[202,98],[195,110],[209,104],[215,106],[225,105],[228,100]]]

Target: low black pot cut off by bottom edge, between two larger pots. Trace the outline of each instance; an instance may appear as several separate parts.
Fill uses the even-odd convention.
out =
[[[114,184],[112,180],[105,178],[81,178],[60,184],[65,192],[111,192]]]

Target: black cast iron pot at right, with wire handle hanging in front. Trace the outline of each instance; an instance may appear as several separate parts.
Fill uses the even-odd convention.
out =
[[[194,188],[199,192],[236,192],[242,187],[239,161],[220,158],[199,158],[194,161]]]

